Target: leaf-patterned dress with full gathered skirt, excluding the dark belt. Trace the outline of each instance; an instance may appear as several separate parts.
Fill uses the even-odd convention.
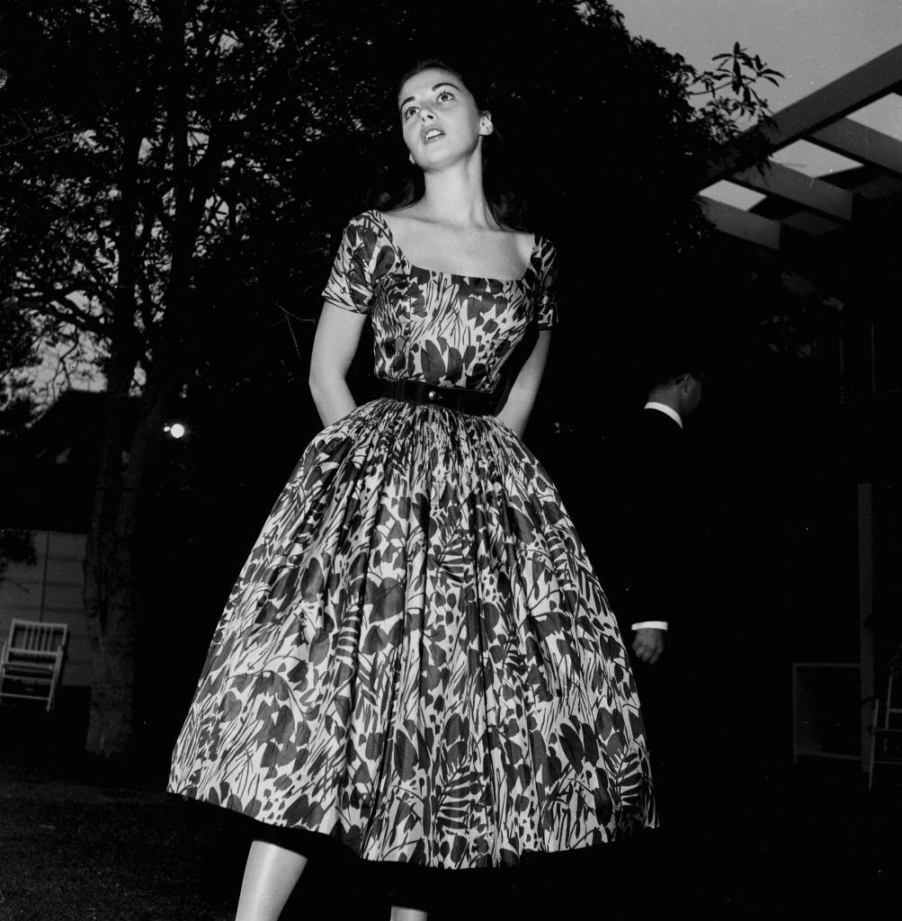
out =
[[[376,375],[491,391],[556,322],[554,247],[410,264],[379,212],[324,291]],[[304,451],[228,599],[170,789],[360,857],[516,864],[656,823],[635,685],[554,484],[494,416],[381,398]]]

